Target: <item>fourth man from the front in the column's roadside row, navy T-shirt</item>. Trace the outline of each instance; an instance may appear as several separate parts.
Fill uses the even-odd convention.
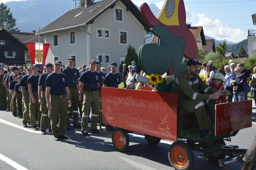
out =
[[[28,127],[27,123],[30,122],[29,119],[29,88],[28,88],[28,78],[33,74],[32,68],[27,67],[26,69],[27,75],[23,76],[20,80],[20,91],[22,94],[22,100],[23,100],[23,127]]]

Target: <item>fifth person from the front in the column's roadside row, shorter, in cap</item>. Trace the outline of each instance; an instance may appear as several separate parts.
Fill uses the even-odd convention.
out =
[[[22,119],[22,117],[23,117],[23,113],[22,113],[22,94],[21,94],[21,91],[19,91],[20,80],[21,80],[21,76],[17,76],[18,83],[15,84],[15,87],[13,89],[14,94],[13,94],[13,97],[12,97],[12,102],[16,102],[17,117]],[[15,99],[16,99],[16,101],[15,101]]]

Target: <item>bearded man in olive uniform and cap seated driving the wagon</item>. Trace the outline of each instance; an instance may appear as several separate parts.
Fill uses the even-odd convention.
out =
[[[183,71],[174,82],[172,87],[173,93],[180,94],[180,108],[188,113],[195,113],[200,128],[201,138],[205,138],[211,128],[211,123],[207,118],[205,111],[205,102],[210,113],[211,119],[215,113],[216,99],[221,96],[221,93],[230,94],[230,91],[223,90],[218,92],[217,89],[211,88],[202,81],[198,76],[199,65],[197,59],[189,59],[186,66],[186,71]],[[197,91],[204,91],[207,94],[199,94]]]

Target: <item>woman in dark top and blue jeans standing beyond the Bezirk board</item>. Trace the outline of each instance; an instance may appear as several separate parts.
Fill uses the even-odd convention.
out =
[[[236,83],[234,83],[232,86],[238,86],[237,90],[233,91],[235,102],[243,101],[244,98],[244,81],[246,78],[243,74],[241,74],[241,70],[239,69],[239,67],[236,67],[234,69],[234,71],[236,72],[236,76],[232,79],[236,80]]]

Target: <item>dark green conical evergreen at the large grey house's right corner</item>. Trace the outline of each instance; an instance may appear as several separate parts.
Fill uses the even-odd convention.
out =
[[[122,72],[122,64],[125,63],[126,67],[128,67],[128,65],[131,65],[132,61],[136,62],[137,73],[140,73],[142,68],[140,66],[138,54],[136,53],[136,49],[129,44],[129,46],[127,47],[127,54],[126,54],[126,57],[125,57],[125,61],[121,62],[121,64],[119,65],[119,71]]]

